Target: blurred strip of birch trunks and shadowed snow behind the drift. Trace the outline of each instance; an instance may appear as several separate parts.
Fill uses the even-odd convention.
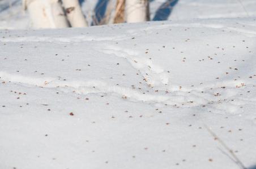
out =
[[[42,1],[44,2],[42,3]],[[76,0],[66,1],[75,3]],[[69,17],[69,14],[71,15],[73,12],[73,8],[72,4],[70,7],[63,6],[65,5],[65,1],[0,0],[0,29],[83,27],[124,22],[133,23],[148,20],[191,20],[256,16],[255,0],[126,0],[126,2],[124,0],[77,1],[86,24],[78,24],[78,26],[74,26],[77,24],[73,24],[73,20],[76,20],[79,23],[81,21],[77,20],[79,17],[78,15]],[[135,1],[137,1],[137,3],[139,1],[139,3],[144,3],[146,7],[143,8],[141,4],[134,4],[136,3]],[[49,4],[52,5],[46,5],[45,2],[49,2]],[[67,17],[66,25],[47,25],[42,23],[42,19],[40,19],[35,13],[35,11],[46,9],[45,14],[43,15],[48,15],[49,9],[53,10],[53,8],[56,8],[56,5],[53,5],[53,3],[58,3],[63,7],[63,14],[58,14],[58,16],[63,18]],[[42,5],[45,5],[45,8],[43,8]],[[143,13],[139,13],[143,12],[143,10],[146,12],[145,16]],[[54,15],[54,12],[51,12],[51,15]],[[131,13],[134,13],[134,15],[129,17]],[[142,15],[144,18],[139,18]],[[53,18],[52,20],[56,19],[54,16],[51,17]]]

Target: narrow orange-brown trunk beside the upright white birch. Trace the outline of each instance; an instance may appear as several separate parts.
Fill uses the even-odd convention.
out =
[[[129,0],[127,0],[129,1]],[[125,22],[125,0],[117,0],[114,24]]]

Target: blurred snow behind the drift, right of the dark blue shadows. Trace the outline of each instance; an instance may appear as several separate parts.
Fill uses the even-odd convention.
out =
[[[172,20],[255,17],[254,0],[185,0],[178,1],[170,15]]]

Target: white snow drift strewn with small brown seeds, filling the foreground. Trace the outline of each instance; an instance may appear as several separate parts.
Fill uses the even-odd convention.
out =
[[[222,9],[0,30],[0,168],[240,168],[206,126],[255,168],[256,20]]]

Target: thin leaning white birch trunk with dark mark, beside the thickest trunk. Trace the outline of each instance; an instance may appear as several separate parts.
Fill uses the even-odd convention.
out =
[[[78,0],[62,0],[62,3],[72,27],[88,26]]]

